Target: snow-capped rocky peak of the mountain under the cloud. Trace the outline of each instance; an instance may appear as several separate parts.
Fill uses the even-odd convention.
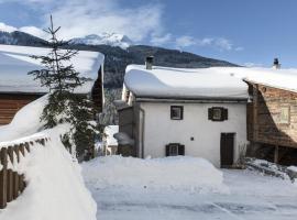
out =
[[[110,46],[120,46],[121,48],[127,48],[133,44],[128,36],[117,33],[90,34],[85,37],[73,38],[70,40],[70,43],[85,45],[105,44]]]

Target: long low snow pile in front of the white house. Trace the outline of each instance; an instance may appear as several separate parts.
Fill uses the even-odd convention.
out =
[[[228,193],[222,184],[222,173],[208,161],[197,157],[107,156],[84,163],[82,170],[87,184],[97,188]]]

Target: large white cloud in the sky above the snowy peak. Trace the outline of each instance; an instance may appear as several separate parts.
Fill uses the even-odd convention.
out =
[[[0,2],[9,2],[0,0]],[[128,8],[120,0],[10,0],[43,11],[43,28],[50,24],[53,14],[56,26],[62,26],[64,40],[88,34],[116,32],[128,35],[134,42],[147,40],[162,33],[163,7],[147,3]],[[30,30],[38,33],[36,30]]]

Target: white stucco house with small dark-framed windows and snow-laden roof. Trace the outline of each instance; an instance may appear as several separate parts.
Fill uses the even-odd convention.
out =
[[[248,85],[232,73],[130,65],[116,102],[119,132],[133,140],[133,156],[189,155],[231,166],[248,144]]]

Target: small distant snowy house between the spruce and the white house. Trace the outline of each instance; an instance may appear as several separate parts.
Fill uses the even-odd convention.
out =
[[[118,141],[113,138],[119,132],[119,125],[108,125],[105,128],[103,151],[105,155],[114,155],[118,150]]]

